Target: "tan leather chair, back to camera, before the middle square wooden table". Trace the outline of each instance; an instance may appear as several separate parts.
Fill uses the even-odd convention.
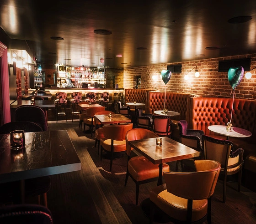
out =
[[[103,150],[110,154],[110,172],[114,156],[118,157],[126,153],[125,136],[126,132],[132,128],[133,123],[103,126],[104,137],[101,138],[101,160]]]

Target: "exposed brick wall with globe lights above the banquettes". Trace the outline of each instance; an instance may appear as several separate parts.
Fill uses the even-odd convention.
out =
[[[181,73],[171,74],[171,79],[166,85],[167,92],[186,92],[199,94],[203,97],[231,97],[232,87],[228,81],[228,72],[218,72],[219,61],[246,57],[251,57],[251,69],[254,68],[256,66],[256,54],[125,68],[123,88],[135,87],[136,76],[141,76],[142,89],[165,91],[165,83],[160,77],[160,71],[167,69],[167,65],[181,64]],[[195,70],[189,72],[195,66],[200,72],[198,78],[194,76]],[[184,79],[187,73],[189,80]],[[240,85],[235,88],[235,97],[256,99],[256,69],[252,70],[251,74],[251,79],[246,79],[244,74]],[[155,80],[153,80],[153,76],[155,76]]]

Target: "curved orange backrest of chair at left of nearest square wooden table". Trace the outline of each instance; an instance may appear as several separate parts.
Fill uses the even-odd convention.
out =
[[[155,132],[152,132],[148,129],[133,128],[129,130],[125,136],[127,155],[130,156],[130,153],[133,150],[133,148],[128,144],[129,141],[152,138],[152,137],[158,137],[158,135]]]

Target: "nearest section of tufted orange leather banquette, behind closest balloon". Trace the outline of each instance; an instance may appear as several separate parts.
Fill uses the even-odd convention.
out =
[[[233,98],[192,98],[190,106],[187,108],[186,115],[188,128],[203,130],[206,135],[213,135],[214,133],[208,130],[208,126],[226,125],[230,121],[232,101]],[[235,143],[236,147],[244,149],[244,163],[246,169],[248,164],[251,163],[251,157],[249,155],[256,156],[256,101],[234,99],[231,123],[234,127],[244,128],[252,133],[251,137],[229,138],[230,141]],[[218,138],[226,137],[218,136]]]

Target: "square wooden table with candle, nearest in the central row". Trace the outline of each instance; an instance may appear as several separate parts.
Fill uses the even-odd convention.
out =
[[[149,159],[150,162],[159,164],[159,177],[157,186],[163,183],[163,163],[193,158],[200,155],[198,151],[178,143],[169,137],[162,137],[162,139],[162,146],[155,145],[156,137],[128,142],[132,148]]]

